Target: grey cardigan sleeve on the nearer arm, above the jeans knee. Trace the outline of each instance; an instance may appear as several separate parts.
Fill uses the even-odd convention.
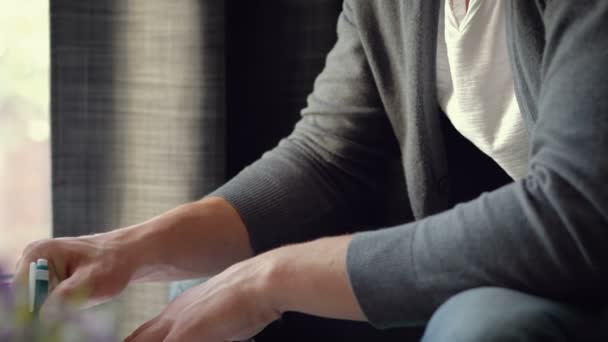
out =
[[[605,297],[608,2],[547,1],[527,178],[427,219],[356,234],[347,266],[377,327],[426,321],[451,295],[501,286]]]

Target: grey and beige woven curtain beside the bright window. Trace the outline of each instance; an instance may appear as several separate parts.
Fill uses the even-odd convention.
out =
[[[225,177],[223,0],[51,2],[55,236],[141,222]],[[166,285],[112,305],[124,337]]]

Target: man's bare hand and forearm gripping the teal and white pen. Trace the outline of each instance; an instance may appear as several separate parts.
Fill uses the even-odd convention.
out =
[[[15,282],[27,288],[29,263],[49,262],[54,303],[88,307],[119,294],[131,281],[211,276],[253,255],[245,225],[221,198],[179,206],[147,222],[108,233],[40,240],[24,250]]]

